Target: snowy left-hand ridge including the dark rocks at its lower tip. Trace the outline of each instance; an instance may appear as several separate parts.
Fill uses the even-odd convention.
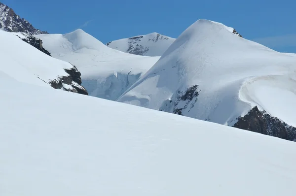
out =
[[[74,65],[40,52],[18,36],[0,30],[1,72],[21,82],[87,95]]]

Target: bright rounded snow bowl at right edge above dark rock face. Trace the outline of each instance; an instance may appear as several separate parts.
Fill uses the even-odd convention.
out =
[[[264,108],[288,125],[296,127],[296,81],[285,76],[263,76],[249,80],[240,89],[240,99]]]

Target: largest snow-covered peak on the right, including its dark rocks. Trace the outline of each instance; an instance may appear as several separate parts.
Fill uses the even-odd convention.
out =
[[[295,54],[198,20],[117,100],[295,140],[295,70]]]

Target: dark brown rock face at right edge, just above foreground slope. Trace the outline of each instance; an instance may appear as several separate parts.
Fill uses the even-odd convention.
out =
[[[280,119],[270,116],[265,111],[260,111],[257,106],[250,110],[244,117],[239,117],[233,127],[296,141],[295,127],[289,126]]]

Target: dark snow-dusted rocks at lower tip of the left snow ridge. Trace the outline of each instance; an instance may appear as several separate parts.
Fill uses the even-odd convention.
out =
[[[71,69],[65,69],[69,74],[68,76],[62,76],[58,79],[50,81],[50,85],[55,89],[63,89],[65,91],[79,93],[82,95],[88,95],[86,89],[81,86],[81,73],[73,65]]]

